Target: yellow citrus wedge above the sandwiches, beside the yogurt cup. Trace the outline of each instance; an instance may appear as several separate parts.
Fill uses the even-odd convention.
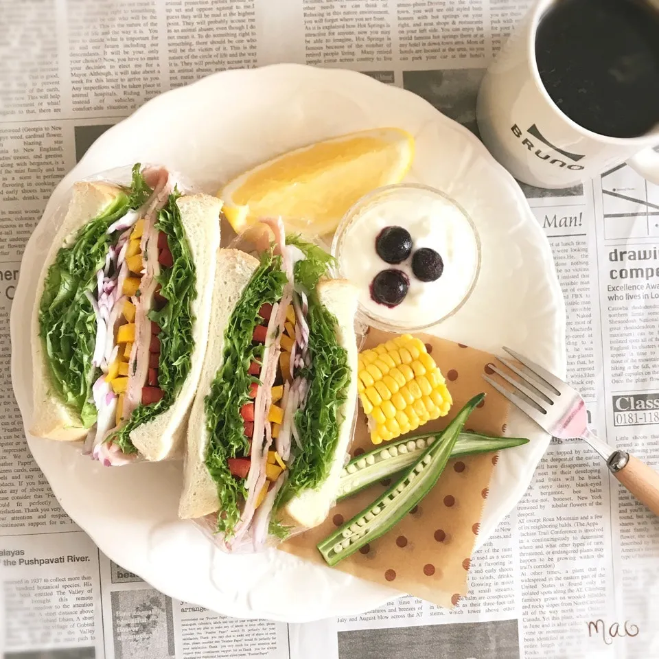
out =
[[[264,216],[281,216],[288,230],[323,235],[362,196],[399,183],[413,158],[414,138],[406,130],[362,130],[257,165],[227,183],[218,197],[236,233]]]

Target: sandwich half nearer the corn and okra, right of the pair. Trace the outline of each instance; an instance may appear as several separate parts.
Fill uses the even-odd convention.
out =
[[[179,516],[206,518],[227,551],[327,517],[356,406],[356,290],[327,278],[318,246],[270,224],[260,260],[220,250],[188,428]]]

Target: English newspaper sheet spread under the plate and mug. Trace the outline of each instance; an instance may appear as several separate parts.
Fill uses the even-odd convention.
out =
[[[7,659],[659,657],[659,521],[579,441],[553,441],[527,494],[474,556],[470,595],[452,612],[403,597],[360,616],[285,625],[170,599],[102,555],[49,491],[12,394],[9,314],[23,247],[56,183],[106,128],[214,71],[301,62],[402,86],[477,133],[478,84],[530,4],[0,0]],[[565,294],[569,379],[601,437],[659,465],[659,187],[620,165],[570,189],[522,189]]]

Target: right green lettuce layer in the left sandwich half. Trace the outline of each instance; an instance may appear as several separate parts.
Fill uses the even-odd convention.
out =
[[[161,268],[157,277],[167,304],[160,311],[151,310],[148,314],[149,319],[160,326],[158,386],[163,390],[163,397],[157,403],[137,406],[126,424],[108,437],[107,441],[114,441],[124,453],[137,452],[130,441],[130,432],[172,406],[192,368],[194,316],[190,309],[197,297],[196,270],[181,222],[181,211],[176,205],[178,196],[178,192],[170,195],[156,224],[156,228],[167,235],[174,260],[174,265]]]

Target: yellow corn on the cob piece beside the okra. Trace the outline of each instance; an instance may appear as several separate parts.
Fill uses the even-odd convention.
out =
[[[357,386],[374,444],[445,416],[453,403],[435,360],[410,334],[360,353]]]

